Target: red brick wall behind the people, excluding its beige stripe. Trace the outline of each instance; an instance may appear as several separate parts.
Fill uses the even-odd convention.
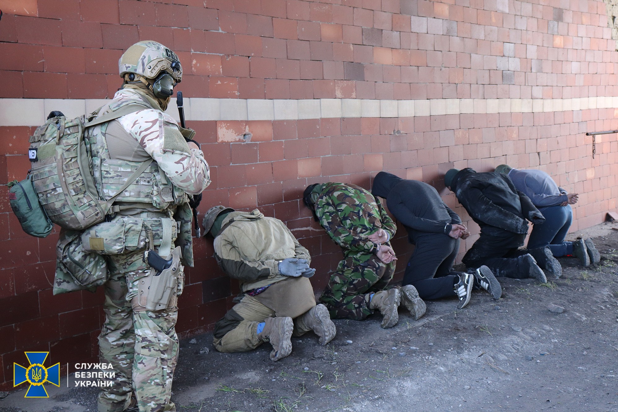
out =
[[[602,1],[167,3],[0,0],[0,104],[9,98],[111,98],[121,84],[117,60],[138,40],[160,41],[177,52],[185,70],[179,90],[187,97],[593,98],[586,109],[564,106],[567,111],[190,122],[213,179],[200,211],[214,204],[259,207],[286,221],[314,256],[316,289],[341,255],[299,200],[310,183],[369,188],[376,172],[389,170],[433,183],[469,221],[441,175],[451,167],[487,171],[507,162],[546,170],[580,193],[573,229],[597,224],[616,208],[616,136],[598,137],[593,159],[591,138],[584,135],[618,129],[613,106],[587,108],[597,107],[597,97],[616,95],[618,53]],[[227,138],[247,128],[250,143]],[[95,359],[103,321],[100,290],[51,294],[57,236],[28,237],[10,211],[6,183],[27,174],[32,130],[0,124],[0,390],[11,387],[12,363],[23,363],[24,350],[49,350],[53,363]],[[410,251],[402,233],[395,242],[400,267]],[[180,301],[182,335],[211,329],[237,292],[210,257],[211,240],[197,239],[195,253]]]

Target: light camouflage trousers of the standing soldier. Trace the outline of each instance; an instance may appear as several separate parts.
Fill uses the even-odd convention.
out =
[[[142,256],[143,251],[108,256],[99,358],[112,364],[115,379],[99,393],[99,412],[124,411],[132,393],[140,412],[176,411],[170,397],[179,348],[178,308],[133,310],[138,281],[150,270]]]

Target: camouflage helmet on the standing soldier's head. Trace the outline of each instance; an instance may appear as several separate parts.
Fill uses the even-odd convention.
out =
[[[177,83],[182,79],[182,65],[176,53],[156,41],[138,41],[125,51],[118,61],[121,77],[134,73],[156,78],[161,72],[171,75]]]

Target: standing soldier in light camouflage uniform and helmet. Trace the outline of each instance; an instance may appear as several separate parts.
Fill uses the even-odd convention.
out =
[[[114,366],[116,377],[101,390],[98,410],[175,411],[170,397],[179,347],[176,304],[182,264],[193,266],[188,196],[210,184],[209,169],[191,140],[195,132],[164,113],[182,77],[176,54],[155,41],[140,41],[122,55],[119,69],[122,89],[90,119],[112,111],[127,114],[85,132],[100,198],[111,199],[133,180],[114,201],[115,214],[82,235],[83,248],[108,261],[99,356]],[[172,259],[175,274],[168,269],[156,275],[143,261],[146,249]],[[167,298],[152,292],[159,287],[169,292]]]

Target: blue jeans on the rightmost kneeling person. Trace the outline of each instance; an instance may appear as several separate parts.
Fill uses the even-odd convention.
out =
[[[564,242],[573,219],[573,209],[570,204],[539,208],[539,211],[545,217],[545,222],[533,226],[528,239],[528,249],[549,246],[554,256],[572,254],[572,242]]]

